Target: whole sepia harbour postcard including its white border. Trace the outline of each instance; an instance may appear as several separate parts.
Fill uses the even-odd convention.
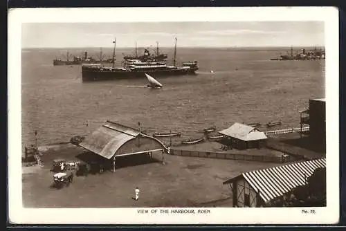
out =
[[[310,18],[298,10],[294,21],[279,13],[265,19],[260,9],[252,20],[242,10],[229,20],[221,19],[225,10],[189,20],[188,9],[165,8],[181,13],[175,21],[158,21],[154,9],[133,8],[129,21],[120,20],[125,12],[109,20],[104,11],[104,21],[84,12],[78,21],[55,10],[51,19],[38,21],[37,11],[28,12],[33,20],[24,11],[13,17],[21,16],[9,50],[16,70],[8,76],[12,96],[19,94],[9,127],[16,216],[30,222],[25,210],[94,209],[98,217],[98,210],[117,209],[107,217],[280,223],[283,215],[254,219],[279,211],[288,223],[318,223],[331,207],[326,221],[338,221],[333,10],[320,17],[312,10]],[[59,19],[64,14],[69,21]],[[246,211],[254,216],[229,218]],[[37,216],[36,223],[49,223]],[[131,221],[100,219],[122,222]]]

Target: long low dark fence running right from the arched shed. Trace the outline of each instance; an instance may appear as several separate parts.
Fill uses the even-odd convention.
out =
[[[171,149],[170,154],[176,156],[191,156],[200,158],[217,158],[228,160],[248,160],[257,162],[270,162],[270,163],[289,163],[296,160],[295,157],[289,155],[282,156],[257,156],[245,154],[230,154],[221,152],[208,152],[208,151],[185,151],[179,149]]]

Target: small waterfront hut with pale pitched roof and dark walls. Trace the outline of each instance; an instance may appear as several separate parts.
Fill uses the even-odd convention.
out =
[[[235,122],[228,129],[219,131],[224,135],[223,142],[237,149],[261,148],[266,146],[266,134],[255,127]]]

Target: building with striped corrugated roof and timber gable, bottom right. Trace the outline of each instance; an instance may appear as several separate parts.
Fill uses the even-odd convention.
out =
[[[305,185],[307,178],[320,167],[326,167],[325,158],[244,172],[224,181],[224,185],[230,185],[233,207],[262,207]]]

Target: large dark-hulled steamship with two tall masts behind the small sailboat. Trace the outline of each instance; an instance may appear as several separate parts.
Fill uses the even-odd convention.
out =
[[[115,57],[116,40],[113,41],[113,59]],[[197,61],[183,62],[182,66],[176,66],[176,39],[174,46],[173,65],[167,65],[165,59],[158,59],[157,55],[151,55],[149,50],[145,49],[142,58],[140,57],[124,57],[124,66],[111,67],[102,64],[83,64],[82,80],[101,81],[116,80],[131,77],[145,77],[145,73],[152,77],[163,75],[194,75],[198,70]]]

